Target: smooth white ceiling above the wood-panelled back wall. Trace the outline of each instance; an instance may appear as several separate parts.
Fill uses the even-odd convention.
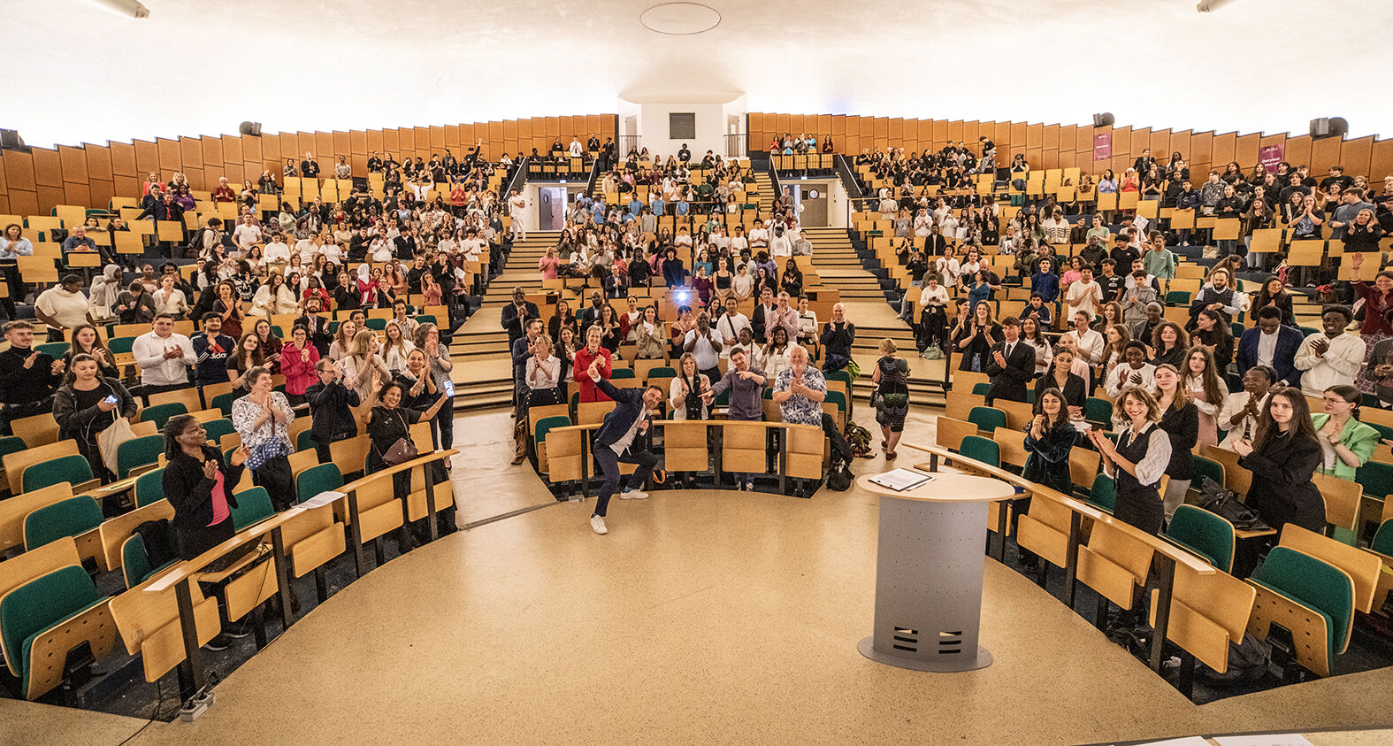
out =
[[[617,110],[745,92],[751,110],[1305,131],[1393,119],[1371,0],[709,0],[705,33],[642,0],[4,0],[0,125],[31,145]]]

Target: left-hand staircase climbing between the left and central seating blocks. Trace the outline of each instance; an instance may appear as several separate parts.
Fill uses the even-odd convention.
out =
[[[513,402],[513,357],[499,318],[511,303],[514,287],[528,293],[542,290],[536,261],[556,245],[559,236],[560,231],[529,231],[525,241],[514,243],[503,273],[483,291],[483,304],[454,333],[450,353],[456,361],[456,411],[506,407]]]

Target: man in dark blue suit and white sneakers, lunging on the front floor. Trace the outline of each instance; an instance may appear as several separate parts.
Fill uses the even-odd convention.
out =
[[[595,431],[595,441],[591,443],[595,460],[600,463],[600,471],[605,473],[605,484],[600,485],[599,499],[595,501],[595,513],[591,516],[591,528],[596,534],[607,534],[605,512],[609,508],[610,495],[618,489],[620,462],[638,464],[638,469],[630,475],[628,484],[632,489],[620,494],[620,499],[641,501],[648,498],[648,492],[644,492],[641,487],[648,481],[648,474],[657,466],[657,455],[638,449],[635,445],[638,436],[648,431],[652,423],[651,413],[663,400],[663,389],[659,386],[648,386],[646,389],[614,388],[613,383],[600,378],[598,364],[598,361],[591,363],[586,372],[591,381],[614,400],[614,409],[605,416],[605,423]]]

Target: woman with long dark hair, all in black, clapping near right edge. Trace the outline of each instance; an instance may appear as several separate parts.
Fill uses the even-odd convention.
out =
[[[1311,481],[1321,469],[1321,436],[1315,432],[1305,396],[1294,386],[1275,389],[1258,417],[1252,441],[1237,441],[1238,466],[1252,471],[1244,501],[1277,530],[1287,523],[1321,533],[1325,499]]]

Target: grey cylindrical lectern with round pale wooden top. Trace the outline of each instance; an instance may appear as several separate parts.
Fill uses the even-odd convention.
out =
[[[872,661],[915,671],[972,671],[992,665],[978,644],[986,505],[1010,498],[1004,481],[935,473],[896,492],[857,478],[880,495],[875,626],[857,646]]]

